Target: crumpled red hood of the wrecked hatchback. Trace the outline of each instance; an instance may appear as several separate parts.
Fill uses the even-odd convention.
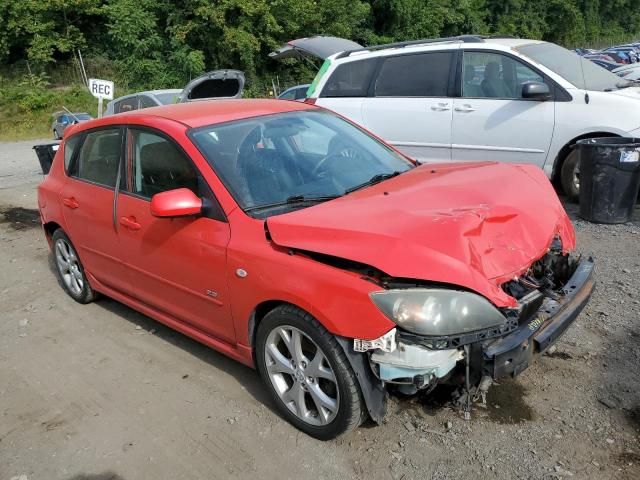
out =
[[[397,278],[459,285],[499,307],[500,285],[573,226],[542,170],[529,165],[425,164],[336,200],[267,219],[277,245],[373,266]]]

